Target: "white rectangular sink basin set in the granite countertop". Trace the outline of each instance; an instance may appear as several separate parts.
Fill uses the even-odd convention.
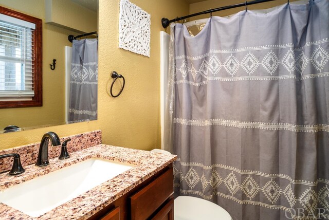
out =
[[[90,158],[0,191],[0,202],[38,217],[132,167],[135,165]]]

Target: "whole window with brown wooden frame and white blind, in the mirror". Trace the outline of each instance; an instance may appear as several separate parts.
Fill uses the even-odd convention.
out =
[[[0,7],[0,107],[42,106],[42,20]]]

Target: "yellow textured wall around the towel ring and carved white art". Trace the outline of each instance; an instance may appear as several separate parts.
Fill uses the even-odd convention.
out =
[[[99,0],[98,120],[2,134],[0,149],[38,142],[48,131],[67,136],[96,129],[102,130],[106,144],[143,150],[160,147],[160,21],[188,14],[189,5],[185,0],[131,2],[151,14],[151,57],[118,48],[119,0]],[[113,70],[126,79],[118,98],[107,94]],[[49,75],[50,82],[57,77]]]

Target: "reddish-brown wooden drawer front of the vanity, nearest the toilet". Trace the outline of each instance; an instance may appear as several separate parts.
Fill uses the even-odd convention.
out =
[[[173,169],[168,169],[136,194],[130,197],[131,219],[147,219],[173,193]]]

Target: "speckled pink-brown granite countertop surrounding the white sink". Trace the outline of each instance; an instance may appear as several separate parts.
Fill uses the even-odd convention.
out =
[[[25,166],[25,173],[18,176],[9,176],[8,172],[2,173],[0,191],[92,157],[135,164],[136,167],[36,218],[0,203],[0,219],[87,219],[177,158],[175,155],[99,144],[72,152],[70,158],[65,160],[49,159],[50,165],[44,168],[36,167],[34,164]]]

